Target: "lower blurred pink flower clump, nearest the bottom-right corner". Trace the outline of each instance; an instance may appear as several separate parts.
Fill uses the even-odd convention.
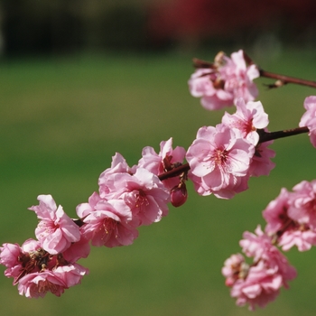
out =
[[[249,310],[255,310],[256,305],[265,307],[274,301],[281,287],[287,288],[287,282],[296,277],[296,270],[260,227],[256,235],[245,232],[243,237],[240,246],[246,256],[253,257],[252,264],[246,264],[240,254],[232,255],[225,261],[222,274],[237,305],[248,303]]]

